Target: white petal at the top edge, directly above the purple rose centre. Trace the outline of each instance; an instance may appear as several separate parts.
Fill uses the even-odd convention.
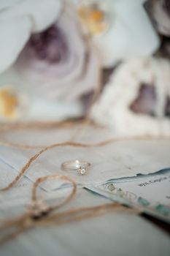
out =
[[[25,0],[1,13],[1,19],[28,15],[32,21],[32,32],[47,29],[58,18],[61,0]]]

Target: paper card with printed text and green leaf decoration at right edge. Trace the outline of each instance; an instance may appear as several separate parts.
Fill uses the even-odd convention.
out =
[[[170,168],[136,178],[120,178],[88,189],[170,222]]]

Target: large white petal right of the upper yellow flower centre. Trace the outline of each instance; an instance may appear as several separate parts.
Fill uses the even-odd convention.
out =
[[[140,0],[142,1],[142,0]],[[94,37],[103,53],[104,66],[136,56],[147,56],[159,46],[159,39],[140,1],[110,1],[112,25],[101,37]]]

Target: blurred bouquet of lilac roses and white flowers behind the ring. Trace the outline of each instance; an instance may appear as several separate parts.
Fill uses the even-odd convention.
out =
[[[85,116],[170,135],[169,0],[2,0],[0,124]]]

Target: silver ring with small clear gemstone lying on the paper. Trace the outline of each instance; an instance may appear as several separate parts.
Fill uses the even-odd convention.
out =
[[[61,164],[61,170],[77,170],[78,174],[85,175],[90,165],[90,162],[87,161],[71,160],[63,162]]]

